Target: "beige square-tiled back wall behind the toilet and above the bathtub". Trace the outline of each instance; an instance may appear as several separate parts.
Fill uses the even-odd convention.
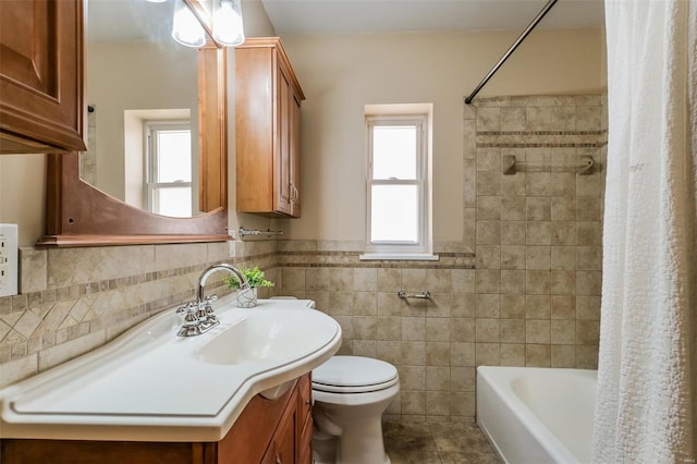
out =
[[[597,366],[604,101],[465,106],[464,236],[436,244],[437,262],[360,261],[360,243],[279,242],[281,293],[338,319],[341,353],[398,367],[402,391],[389,414],[473,417],[478,365]],[[504,174],[511,155],[526,164]],[[575,172],[582,156],[596,162],[590,175]],[[399,290],[433,296],[405,303]]]

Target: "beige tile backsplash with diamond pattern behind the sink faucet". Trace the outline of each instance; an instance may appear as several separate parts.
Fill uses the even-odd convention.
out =
[[[280,279],[276,244],[22,248],[21,294],[0,298],[0,387],[89,352],[160,312],[192,301],[215,262],[258,264]],[[254,261],[244,256],[254,256]],[[209,286],[228,293],[220,276]],[[260,296],[269,295],[261,289]],[[212,291],[212,290],[211,290]]]

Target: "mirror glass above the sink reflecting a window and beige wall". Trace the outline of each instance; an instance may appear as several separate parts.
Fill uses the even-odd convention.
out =
[[[198,209],[197,49],[172,39],[174,2],[88,0],[84,182],[166,216]]]

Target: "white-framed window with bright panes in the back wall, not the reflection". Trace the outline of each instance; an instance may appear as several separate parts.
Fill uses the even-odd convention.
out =
[[[376,255],[362,258],[428,258],[428,114],[368,115],[366,123],[367,248]]]

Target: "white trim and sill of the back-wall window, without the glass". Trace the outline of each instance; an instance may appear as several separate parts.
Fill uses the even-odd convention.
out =
[[[368,110],[370,107],[370,110]],[[405,109],[411,111],[405,111]],[[376,111],[377,110],[377,111]],[[432,221],[431,221],[431,114],[430,105],[379,105],[366,107],[366,253],[360,260],[438,260],[432,254]],[[372,146],[371,127],[376,125],[413,123],[419,125],[420,149],[416,180],[374,180],[372,179]],[[371,242],[371,191],[372,185],[408,184],[419,187],[419,224],[418,242]]]

